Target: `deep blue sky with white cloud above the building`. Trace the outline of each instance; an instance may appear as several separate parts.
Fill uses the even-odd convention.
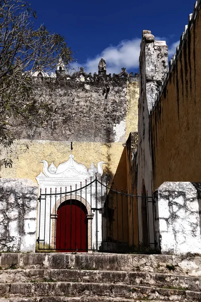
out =
[[[151,30],[157,39],[166,40],[169,56],[176,45],[194,0],[30,0],[37,12],[36,25],[65,37],[74,52],[72,66],[97,72],[100,57],[108,72],[121,67],[138,72],[142,30]]]

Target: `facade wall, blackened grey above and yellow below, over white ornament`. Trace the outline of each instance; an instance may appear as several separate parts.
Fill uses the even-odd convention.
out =
[[[20,140],[14,143],[13,168],[1,167],[2,177],[36,182],[35,177],[43,170],[42,160],[58,166],[73,154],[87,168],[104,161],[104,172],[111,180],[116,175],[116,185],[126,187],[120,162],[123,143],[131,131],[137,131],[139,78],[98,79],[76,77],[41,91],[53,106],[51,119],[46,128],[18,129]],[[27,144],[29,149],[24,152]]]

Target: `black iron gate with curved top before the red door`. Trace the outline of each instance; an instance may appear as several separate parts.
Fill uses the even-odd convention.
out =
[[[118,190],[97,177],[38,198],[38,250],[59,252],[156,251],[152,196]]]

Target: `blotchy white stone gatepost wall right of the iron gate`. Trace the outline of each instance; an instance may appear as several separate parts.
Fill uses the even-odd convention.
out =
[[[162,254],[201,253],[201,184],[164,182],[155,192],[156,239]]]

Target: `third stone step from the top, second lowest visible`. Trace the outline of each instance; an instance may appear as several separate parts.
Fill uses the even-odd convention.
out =
[[[201,292],[177,290],[147,286],[132,286],[107,283],[70,283],[70,282],[39,282],[39,283],[1,283],[2,297],[38,297],[38,296],[104,296],[136,300],[163,300],[198,302]]]

